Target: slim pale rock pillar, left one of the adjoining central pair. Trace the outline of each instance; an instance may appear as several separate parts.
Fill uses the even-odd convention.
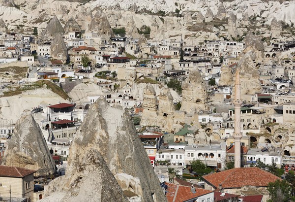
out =
[[[144,90],[143,116],[141,125],[156,125],[155,118],[158,116],[158,100],[155,89],[148,84]]]

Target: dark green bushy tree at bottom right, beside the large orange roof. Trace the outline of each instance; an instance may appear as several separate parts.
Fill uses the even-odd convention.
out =
[[[270,182],[267,186],[270,199],[267,202],[292,202],[295,199],[291,196],[291,190],[291,185],[286,180]]]

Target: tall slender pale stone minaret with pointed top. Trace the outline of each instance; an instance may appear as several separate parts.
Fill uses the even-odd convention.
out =
[[[239,78],[239,69],[236,69],[236,81],[235,81],[235,168],[241,167],[241,127],[240,127],[240,119],[241,119],[241,90],[240,90],[240,78]]]

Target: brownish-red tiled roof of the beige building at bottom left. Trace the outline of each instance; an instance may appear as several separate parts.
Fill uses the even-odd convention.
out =
[[[26,169],[26,168],[18,168],[18,167],[10,167],[10,166],[0,166],[0,176],[1,177],[25,177],[32,173],[36,172],[36,170]]]

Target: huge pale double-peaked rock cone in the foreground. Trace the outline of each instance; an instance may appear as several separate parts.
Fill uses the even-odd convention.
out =
[[[100,97],[71,144],[66,174],[49,183],[45,197],[126,202],[126,196],[167,202],[128,112]]]

